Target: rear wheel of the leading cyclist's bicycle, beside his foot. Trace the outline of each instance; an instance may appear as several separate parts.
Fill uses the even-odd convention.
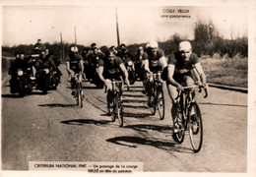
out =
[[[183,114],[182,114],[182,109],[181,106],[178,105],[178,107],[176,108],[176,117],[173,118],[173,129],[174,129],[174,125],[176,126],[177,132],[173,131],[172,133],[172,139],[178,143],[178,144],[182,144],[184,141],[184,137],[185,137],[185,130],[184,130],[184,119],[183,119]],[[180,125],[181,123],[181,125]]]

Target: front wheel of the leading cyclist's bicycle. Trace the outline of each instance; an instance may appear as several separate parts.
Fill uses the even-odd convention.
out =
[[[188,112],[188,128],[190,143],[194,152],[198,152],[203,144],[203,122],[199,106],[192,102]]]

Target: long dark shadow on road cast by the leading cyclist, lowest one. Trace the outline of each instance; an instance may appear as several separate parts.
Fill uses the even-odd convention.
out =
[[[110,142],[112,144],[116,144],[119,146],[129,147],[129,148],[138,148],[138,146],[151,146],[155,148],[161,148],[164,150],[172,150],[178,152],[186,152],[186,153],[193,153],[189,148],[176,148],[177,144],[164,141],[164,140],[157,140],[157,139],[146,139],[141,137],[129,137],[129,136],[122,136],[122,137],[115,137],[106,140],[106,142]]]

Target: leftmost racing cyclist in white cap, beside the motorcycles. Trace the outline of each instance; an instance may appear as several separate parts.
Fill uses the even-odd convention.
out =
[[[71,77],[71,94],[75,95],[75,74],[84,72],[83,57],[78,53],[77,46],[71,47],[70,54],[66,57],[66,68],[68,74]],[[82,75],[79,76],[79,81],[82,83]]]

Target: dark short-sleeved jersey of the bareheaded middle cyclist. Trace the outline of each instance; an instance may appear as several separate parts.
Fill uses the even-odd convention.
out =
[[[115,57],[113,63],[109,63],[107,59],[99,60],[98,66],[102,66],[103,69],[103,77],[105,79],[116,79],[120,78],[121,75],[121,69],[119,67],[120,64],[122,64],[123,61],[119,57]]]

